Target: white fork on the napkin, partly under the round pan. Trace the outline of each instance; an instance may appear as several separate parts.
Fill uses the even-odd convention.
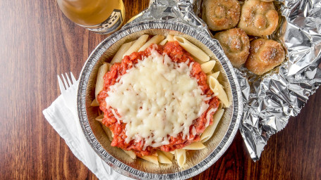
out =
[[[77,86],[78,86],[78,82],[75,79],[75,77],[73,76],[73,72],[71,72],[71,78],[68,77],[67,73],[65,73],[65,75],[66,75],[66,78],[63,76],[63,74],[61,74],[63,81],[61,81],[61,78],[59,77],[59,75],[57,75],[59,88],[61,91],[61,95],[63,96],[63,102],[68,106],[68,108],[71,110],[73,115],[75,115],[75,117],[78,117],[78,115],[76,113],[77,112]],[[76,120],[75,124],[76,124],[76,127],[79,132],[78,136],[80,136],[80,139],[81,138],[85,139],[85,136],[83,135],[83,133],[81,133],[82,130],[81,130],[80,124],[77,122],[77,120]],[[94,158],[95,158],[95,157],[92,157],[92,153],[95,153],[95,152],[88,152],[87,148],[85,146],[85,143],[83,141],[80,141],[80,146],[84,150],[85,161],[87,161],[91,164],[92,160],[94,160]],[[107,166],[108,168],[106,168],[106,165],[104,165],[104,162],[102,162],[102,159],[100,159],[100,158],[97,158],[97,159],[98,159],[97,162],[102,164],[102,167],[104,167],[107,174],[111,174],[111,167]]]

